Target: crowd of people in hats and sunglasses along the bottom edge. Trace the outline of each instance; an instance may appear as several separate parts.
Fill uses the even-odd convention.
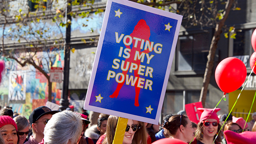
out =
[[[202,112],[198,124],[191,122],[184,112],[168,114],[158,125],[128,119],[122,143],[256,143],[256,112],[247,123],[242,117],[218,116],[219,108],[198,111]],[[88,128],[88,114],[77,113],[74,107],[60,112],[40,106],[29,119],[13,114],[7,107],[0,110],[0,144],[112,144],[115,134],[120,133],[116,132],[118,118],[102,114],[97,124]]]

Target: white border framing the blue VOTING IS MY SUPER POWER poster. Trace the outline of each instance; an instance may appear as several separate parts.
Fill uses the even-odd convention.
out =
[[[109,109],[104,109],[104,108],[89,105],[112,2],[178,20],[173,43],[172,43],[172,49],[171,49],[171,53],[170,53],[170,57],[169,57],[169,62],[168,62],[166,73],[165,73],[162,92],[160,95],[157,115],[156,115],[155,119],[151,119],[151,118],[147,118],[147,117],[140,117],[140,116],[136,116],[136,115],[132,115],[132,114],[127,114],[127,113],[123,113],[123,112],[118,112],[118,111],[114,111],[114,110],[109,110]],[[91,74],[91,78],[89,81],[86,99],[85,99],[85,103],[84,103],[84,109],[98,112],[98,113],[104,113],[104,114],[110,114],[110,115],[115,115],[115,116],[124,117],[124,118],[130,118],[130,119],[148,122],[148,123],[152,123],[152,124],[158,124],[159,118],[161,115],[163,99],[164,99],[164,95],[165,95],[165,91],[166,91],[166,87],[167,87],[167,83],[168,83],[168,78],[169,78],[169,74],[170,74],[170,70],[171,70],[171,66],[172,66],[172,61],[173,61],[173,57],[174,57],[174,53],[175,53],[175,48],[176,48],[176,44],[177,44],[177,40],[178,40],[178,36],[179,36],[179,31],[181,28],[181,21],[182,21],[182,16],[175,14],[175,13],[171,13],[168,11],[144,6],[139,3],[135,3],[132,1],[128,1],[128,0],[108,0],[107,7],[105,10],[104,19],[103,19],[103,25],[101,27],[101,32],[100,32],[100,36],[99,36],[99,42],[98,42],[98,46],[97,46],[97,50],[96,50],[96,56],[94,59],[92,74]]]

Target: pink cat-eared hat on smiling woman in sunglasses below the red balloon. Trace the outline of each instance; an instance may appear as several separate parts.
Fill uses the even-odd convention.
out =
[[[206,109],[206,108],[197,108],[200,112],[202,112],[201,117],[200,117],[200,122],[202,122],[205,119],[216,119],[218,122],[220,122],[220,119],[217,115],[217,112],[221,110],[220,108],[214,109]]]

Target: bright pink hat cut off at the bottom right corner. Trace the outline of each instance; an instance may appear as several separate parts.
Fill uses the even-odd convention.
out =
[[[243,133],[236,133],[230,130],[224,131],[227,144],[255,144],[256,132],[246,131]]]

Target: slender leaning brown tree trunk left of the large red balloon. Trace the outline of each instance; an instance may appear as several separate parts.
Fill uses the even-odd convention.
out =
[[[210,49],[209,49],[209,54],[207,56],[206,68],[205,68],[205,72],[204,72],[204,76],[203,76],[203,87],[202,87],[200,99],[199,99],[199,101],[202,101],[203,107],[205,106],[208,85],[210,83],[212,68],[214,66],[215,52],[217,49],[218,41],[220,40],[220,37],[221,37],[222,27],[225,24],[225,21],[228,17],[228,14],[230,12],[230,9],[231,9],[231,6],[233,5],[233,3],[234,3],[234,0],[227,1],[226,6],[225,6],[225,11],[223,13],[223,18],[219,21],[219,23],[217,23],[217,25],[215,27],[214,36],[212,38]]]

